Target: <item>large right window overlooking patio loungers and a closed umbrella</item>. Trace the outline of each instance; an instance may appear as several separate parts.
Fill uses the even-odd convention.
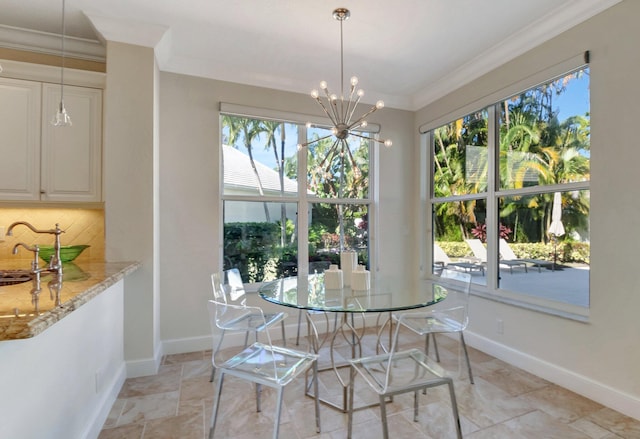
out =
[[[431,238],[449,259],[430,252],[433,271],[471,262],[479,292],[588,308],[589,111],[583,67],[425,134]]]

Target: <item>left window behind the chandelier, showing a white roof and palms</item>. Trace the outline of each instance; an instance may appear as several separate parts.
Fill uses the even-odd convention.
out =
[[[322,139],[329,130],[302,123],[223,113],[221,130],[224,269],[263,282],[322,271],[339,264],[343,250],[369,266],[366,133],[343,151],[332,136]]]

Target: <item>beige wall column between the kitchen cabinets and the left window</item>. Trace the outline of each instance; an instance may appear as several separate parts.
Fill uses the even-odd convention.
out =
[[[160,364],[157,281],[157,99],[153,49],[107,43],[104,197],[108,261],[138,261],[125,279],[125,359],[129,376]],[[169,206],[169,208],[171,208]]]

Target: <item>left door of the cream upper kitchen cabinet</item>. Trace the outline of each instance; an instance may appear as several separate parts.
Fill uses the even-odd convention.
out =
[[[40,199],[39,82],[0,78],[0,199]]]

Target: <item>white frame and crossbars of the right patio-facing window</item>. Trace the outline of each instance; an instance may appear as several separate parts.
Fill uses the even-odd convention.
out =
[[[420,163],[421,163],[421,200],[423,208],[421,209],[422,230],[424,239],[421,242],[420,257],[421,276],[423,278],[432,278],[433,267],[433,206],[437,203],[451,201],[466,201],[474,199],[486,200],[486,226],[487,231],[491,230],[492,235],[496,236],[499,228],[500,218],[498,215],[499,199],[502,197],[510,197],[514,195],[531,195],[545,194],[554,192],[587,190],[590,191],[590,180],[575,183],[562,183],[555,185],[535,185],[531,187],[523,187],[521,189],[502,189],[498,187],[500,181],[499,175],[499,133],[500,133],[500,108],[499,105],[506,99],[522,93],[524,91],[536,88],[543,84],[549,83],[554,79],[577,71],[582,68],[590,68],[588,64],[588,52],[583,56],[573,57],[556,66],[550,67],[543,71],[532,74],[531,77],[518,81],[504,89],[498,90],[487,95],[485,98],[466,105],[465,107],[439,117],[428,124],[423,124],[419,128],[421,147],[420,147]],[[450,197],[436,198],[433,193],[434,182],[434,148],[433,133],[436,128],[451,123],[452,121],[461,119],[471,113],[488,111],[488,173],[487,173],[487,190],[477,194],[464,194]],[[591,213],[590,213],[591,215]],[[486,269],[486,285],[472,283],[472,294],[495,300],[518,307],[532,309],[547,314],[557,315],[564,318],[586,322],[589,319],[590,307],[582,307],[578,305],[567,304],[563,302],[551,301],[540,297],[534,297],[523,294],[521,292],[510,291],[498,286],[499,270],[497,270],[498,261],[498,239],[487,239],[487,269]],[[591,295],[591,288],[587,291]]]

